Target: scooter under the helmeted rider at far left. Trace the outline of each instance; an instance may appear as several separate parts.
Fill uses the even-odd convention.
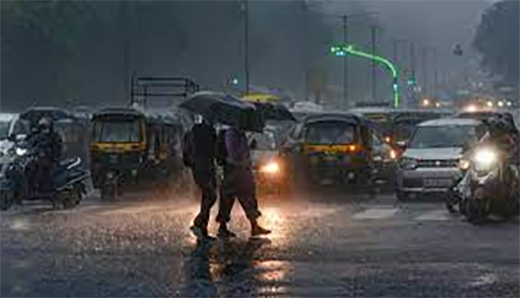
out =
[[[38,154],[23,146],[13,148],[13,157],[2,166],[0,172],[0,210],[8,210],[15,203],[24,200],[48,200],[53,208],[76,207],[86,194],[88,172],[83,169],[79,157],[65,159],[54,166],[51,194],[42,193],[29,185],[28,167],[37,162]]]

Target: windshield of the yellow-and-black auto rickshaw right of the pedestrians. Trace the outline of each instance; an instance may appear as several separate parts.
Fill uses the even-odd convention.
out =
[[[305,141],[309,144],[332,145],[349,144],[356,139],[355,127],[342,121],[327,121],[310,124]]]

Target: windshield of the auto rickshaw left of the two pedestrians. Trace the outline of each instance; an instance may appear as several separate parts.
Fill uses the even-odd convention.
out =
[[[92,138],[95,142],[104,143],[139,142],[141,139],[140,127],[138,120],[96,122]]]

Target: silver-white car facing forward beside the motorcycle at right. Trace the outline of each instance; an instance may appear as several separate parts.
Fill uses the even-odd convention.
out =
[[[474,119],[445,118],[419,124],[397,165],[397,198],[446,193],[469,166],[461,161],[464,149],[484,133],[482,122]]]

